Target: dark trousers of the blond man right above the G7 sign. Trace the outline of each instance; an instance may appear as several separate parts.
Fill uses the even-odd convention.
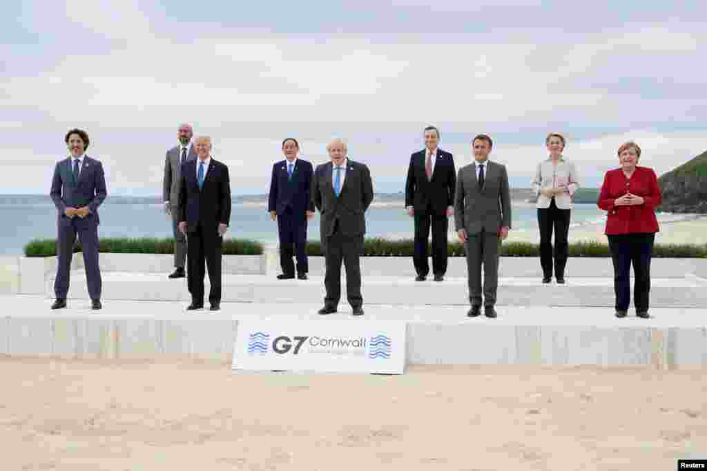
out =
[[[351,307],[363,304],[361,296],[361,252],[363,234],[354,236],[341,234],[339,222],[334,223],[334,232],[323,237],[326,273],[324,285],[327,294],[324,302],[327,306],[338,306],[341,299],[341,262],[346,266],[346,297]]]

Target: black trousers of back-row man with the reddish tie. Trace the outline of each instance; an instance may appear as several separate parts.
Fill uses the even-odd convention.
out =
[[[432,227],[432,273],[444,275],[447,273],[447,231],[449,220],[447,213],[440,216],[433,213],[432,207],[427,208],[426,214],[415,212],[415,242],[412,257],[418,275],[427,276],[430,273],[428,262],[427,241]]]

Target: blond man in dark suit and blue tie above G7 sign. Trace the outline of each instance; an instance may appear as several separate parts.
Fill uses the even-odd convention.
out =
[[[346,143],[327,145],[331,162],[317,165],[312,177],[312,200],[320,213],[322,249],[326,263],[327,296],[319,314],[337,311],[341,297],[341,261],[346,265],[346,294],[354,316],[363,315],[361,265],[365,213],[373,201],[373,181],[366,165],[349,160]]]

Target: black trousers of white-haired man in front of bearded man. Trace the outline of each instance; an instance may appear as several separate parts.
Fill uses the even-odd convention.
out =
[[[197,305],[204,304],[204,261],[209,270],[209,302],[221,302],[221,247],[223,237],[218,235],[216,226],[199,225],[194,232],[187,233],[187,283],[192,294],[192,302]]]

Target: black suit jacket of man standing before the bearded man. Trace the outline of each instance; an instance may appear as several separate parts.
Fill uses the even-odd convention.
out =
[[[180,222],[187,222],[187,232],[197,227],[214,228],[230,221],[230,180],[226,164],[211,157],[209,169],[204,176],[204,186],[199,189],[197,160],[187,160],[182,165],[179,191]]]

